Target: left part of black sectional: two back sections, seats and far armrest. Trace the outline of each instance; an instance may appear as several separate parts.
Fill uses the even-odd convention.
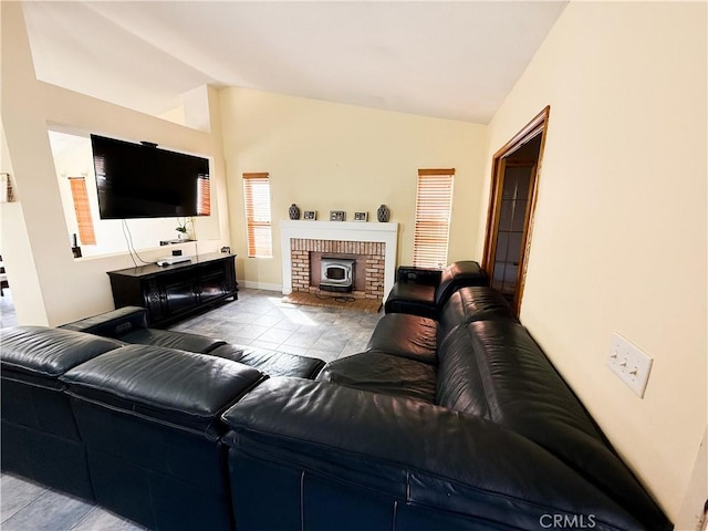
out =
[[[2,470],[154,530],[235,529],[221,414],[270,375],[324,365],[148,329],[142,308],[0,344]]]

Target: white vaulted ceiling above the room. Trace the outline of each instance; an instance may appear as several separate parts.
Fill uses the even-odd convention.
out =
[[[38,77],[149,114],[204,84],[488,123],[563,1],[31,1]]]

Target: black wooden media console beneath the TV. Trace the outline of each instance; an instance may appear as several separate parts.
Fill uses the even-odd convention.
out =
[[[238,299],[235,254],[191,257],[174,266],[150,263],[108,271],[115,308],[147,309],[149,326],[165,326],[232,296]]]

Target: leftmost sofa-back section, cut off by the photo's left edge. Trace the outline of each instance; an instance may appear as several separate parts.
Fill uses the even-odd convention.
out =
[[[0,330],[2,470],[94,500],[86,449],[59,377],[121,343],[44,326]]]

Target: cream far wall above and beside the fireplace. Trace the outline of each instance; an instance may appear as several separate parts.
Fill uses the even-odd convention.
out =
[[[487,126],[319,102],[271,93],[221,91],[232,247],[242,280],[282,284],[280,230],[288,207],[368,211],[385,204],[399,223],[398,262],[413,260],[418,168],[454,167],[455,198],[449,260],[469,259],[477,248]],[[241,175],[269,171],[273,258],[246,258]]]

